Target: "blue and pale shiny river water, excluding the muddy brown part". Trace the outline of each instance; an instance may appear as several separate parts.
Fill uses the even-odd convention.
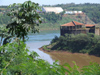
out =
[[[29,34],[29,40],[26,42],[30,51],[35,51],[39,54],[41,59],[48,61],[50,64],[53,64],[54,60],[50,57],[50,55],[40,51],[40,48],[43,45],[47,45],[50,41],[55,37],[59,36],[60,33],[57,30],[52,31],[42,31],[39,34]]]

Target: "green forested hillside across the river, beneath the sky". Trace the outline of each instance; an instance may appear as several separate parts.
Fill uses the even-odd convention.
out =
[[[51,7],[50,5],[43,5]],[[72,20],[85,23],[85,16],[87,16],[87,23],[89,24],[100,24],[100,4],[57,4],[54,7],[62,7],[64,10],[68,11],[82,11],[84,15],[67,15],[63,16],[64,13],[41,13],[40,15],[45,19],[40,25],[40,29],[55,29],[59,28],[60,25],[70,22]],[[8,12],[7,6],[0,6],[0,25],[8,24],[10,22],[10,17],[6,15]]]

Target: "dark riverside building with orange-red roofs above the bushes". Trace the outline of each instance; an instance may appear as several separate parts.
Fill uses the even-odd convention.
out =
[[[97,28],[95,24],[83,24],[76,21],[72,21],[60,26],[61,35],[68,34],[80,34],[80,33],[95,33],[100,35],[100,28]]]

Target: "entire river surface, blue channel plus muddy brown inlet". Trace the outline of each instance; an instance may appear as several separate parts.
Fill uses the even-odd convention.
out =
[[[80,67],[89,65],[90,62],[97,62],[100,64],[100,57],[93,55],[69,53],[65,51],[44,52],[38,49],[43,45],[49,44],[55,36],[60,36],[60,32],[57,30],[52,30],[43,31],[39,34],[30,34],[29,40],[26,42],[26,44],[30,51],[37,52],[41,59],[48,61],[50,64],[53,64],[55,60],[59,60],[59,64],[69,63],[71,66],[74,65],[73,61],[75,61]]]

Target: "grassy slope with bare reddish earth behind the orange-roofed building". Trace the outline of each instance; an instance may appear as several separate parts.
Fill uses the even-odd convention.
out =
[[[87,17],[87,21],[86,21]],[[93,21],[89,19],[88,16],[85,14],[83,15],[63,15],[61,20],[57,20],[56,23],[48,22],[46,21],[45,23],[40,24],[40,30],[58,30],[60,29],[60,25],[71,22],[71,21],[78,21],[81,23],[89,23],[89,24],[94,24]]]

